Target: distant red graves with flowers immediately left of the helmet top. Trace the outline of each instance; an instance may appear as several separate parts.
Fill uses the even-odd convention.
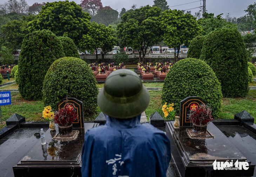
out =
[[[105,81],[107,76],[116,69],[126,69],[123,62],[119,63],[119,65],[116,65],[114,62],[110,64],[103,62],[98,65],[96,63],[91,63],[89,66],[93,70],[96,81]]]

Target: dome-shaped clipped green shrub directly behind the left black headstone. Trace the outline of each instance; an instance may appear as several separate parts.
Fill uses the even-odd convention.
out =
[[[83,102],[85,117],[97,108],[98,88],[88,64],[73,57],[60,58],[50,66],[43,82],[43,104],[56,109],[61,99],[73,97]]]

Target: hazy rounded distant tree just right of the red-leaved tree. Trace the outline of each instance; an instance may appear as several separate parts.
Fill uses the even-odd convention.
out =
[[[118,12],[114,9],[100,9],[98,13],[92,17],[91,22],[101,23],[108,26],[118,18]]]

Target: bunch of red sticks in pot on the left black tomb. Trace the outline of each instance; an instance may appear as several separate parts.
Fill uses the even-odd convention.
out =
[[[74,107],[68,104],[65,106],[65,108],[59,109],[55,112],[54,123],[60,126],[68,126],[71,125],[77,118],[78,115]]]

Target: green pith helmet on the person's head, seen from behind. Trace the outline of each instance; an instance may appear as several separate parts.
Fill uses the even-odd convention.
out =
[[[110,117],[127,119],[140,115],[149,104],[148,90],[129,69],[118,69],[106,79],[98,95],[101,111]]]

